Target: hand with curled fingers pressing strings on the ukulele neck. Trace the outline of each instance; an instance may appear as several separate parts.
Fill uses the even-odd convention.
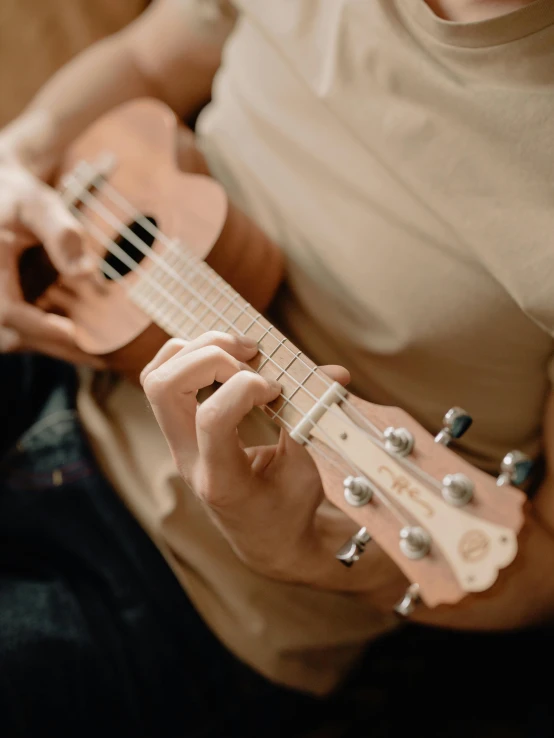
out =
[[[321,565],[316,511],[323,499],[314,462],[284,431],[277,445],[256,448],[244,448],[237,432],[253,407],[281,391],[242,363],[257,352],[251,340],[225,333],[171,340],[145,367],[141,383],[179,472],[239,558],[266,576],[314,584],[314,567]],[[341,367],[325,371],[349,380]],[[197,392],[214,381],[221,386],[199,405]]]

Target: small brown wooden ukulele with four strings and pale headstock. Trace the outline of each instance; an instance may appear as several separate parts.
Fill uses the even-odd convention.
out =
[[[279,249],[231,205],[166,106],[139,100],[102,117],[67,151],[57,186],[98,279],[61,280],[43,264],[46,284],[31,284],[26,252],[22,284],[73,320],[80,348],[136,379],[169,336],[255,338],[252,369],[282,385],[263,410],[306,446],[328,500],[360,526],[338,560],[351,566],[373,539],[411,582],[403,616],[419,600],[453,605],[494,584],[517,554],[526,498],[516,485],[530,460],[508,453],[494,479],[448,447],[471,424],[464,410],[449,410],[433,437],[404,411],[353,396],[288,341],[261,312],[282,278]]]

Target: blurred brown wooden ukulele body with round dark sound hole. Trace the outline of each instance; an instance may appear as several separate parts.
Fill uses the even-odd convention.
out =
[[[223,188],[209,176],[195,147],[194,134],[162,103],[134,101],[102,117],[68,149],[56,185],[63,191],[63,183],[80,162],[94,167],[102,160],[108,162],[103,175],[108,191],[117,191],[125,199],[125,207],[106,193],[102,180],[97,187],[91,184],[82,201],[77,193],[77,217],[87,226],[86,246],[109,261],[107,250],[89,233],[92,229],[98,236],[101,231],[120,247],[130,248],[129,255],[140,268],[117,282],[105,279],[100,272],[98,279],[77,280],[52,274],[54,281],[33,297],[44,309],[71,318],[82,350],[104,356],[110,368],[136,379],[168,335],[127,295],[139,272],[144,278],[155,263],[151,258],[143,259],[122,239],[124,227],[131,228],[162,257],[167,245],[137,223],[145,216],[174,239],[174,249],[184,252],[186,248],[189,254],[206,260],[258,310],[267,307],[279,286],[283,259],[280,250],[229,202]]]

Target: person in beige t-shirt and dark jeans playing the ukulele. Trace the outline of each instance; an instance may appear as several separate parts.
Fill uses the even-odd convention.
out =
[[[247,341],[166,345],[142,375],[153,414],[132,384],[36,355],[90,363],[71,323],[18,287],[37,239],[60,272],[93,268],[45,183],[89,123],[140,96],[187,118],[212,95],[198,145],[282,248],[270,312],[312,359],[433,432],[466,407],[463,452],[490,473],[510,448],[544,452],[516,563],[411,618],[549,621],[553,26],[548,0],[158,0],[4,129],[6,735],[282,735],[394,628],[406,586],[377,546],[337,564],[351,523],[330,526],[302,447],[238,445],[239,421],[279,391],[241,371]]]

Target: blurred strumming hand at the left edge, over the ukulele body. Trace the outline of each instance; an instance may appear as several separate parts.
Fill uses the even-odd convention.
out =
[[[58,193],[35,177],[0,137],[0,353],[37,351],[99,366],[77,347],[69,318],[24,301],[18,262],[21,252],[36,243],[43,244],[61,275],[94,271],[78,221]]]

